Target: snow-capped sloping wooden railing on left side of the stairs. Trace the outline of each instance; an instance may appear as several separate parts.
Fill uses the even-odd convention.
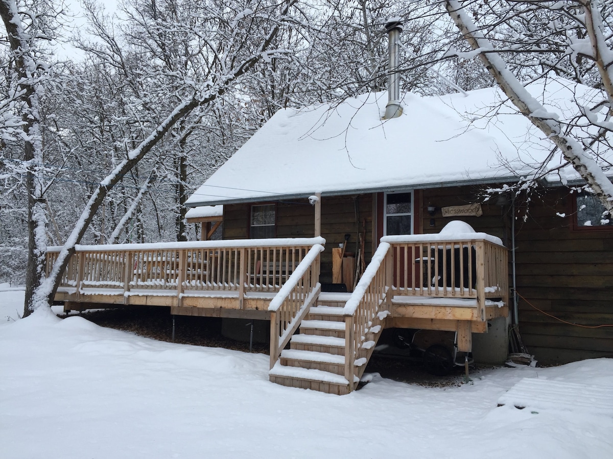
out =
[[[313,245],[302,263],[268,305],[270,311],[270,368],[281,355],[300,321],[321,292],[319,283],[319,254],[323,245]]]

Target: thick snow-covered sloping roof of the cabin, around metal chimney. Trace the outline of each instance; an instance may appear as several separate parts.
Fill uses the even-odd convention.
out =
[[[548,110],[571,118],[597,91],[568,80],[531,84]],[[381,121],[386,93],[337,106],[279,110],[188,199],[188,206],[502,182],[534,173],[553,144],[497,88],[442,97],[406,94]],[[603,109],[604,110],[604,109]],[[561,163],[560,155],[550,166]],[[561,175],[560,175],[561,174]],[[568,176],[565,176],[568,174]],[[552,181],[577,178],[570,168]]]

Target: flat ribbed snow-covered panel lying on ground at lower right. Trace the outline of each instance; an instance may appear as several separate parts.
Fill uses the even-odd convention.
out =
[[[611,387],[524,378],[498,398],[498,406],[581,411],[613,416]]]

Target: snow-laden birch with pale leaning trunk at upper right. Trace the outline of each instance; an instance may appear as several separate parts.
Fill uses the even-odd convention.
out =
[[[566,162],[585,180],[587,186],[600,199],[609,214],[613,215],[613,184],[603,171],[603,165],[610,168],[611,164],[601,157],[604,151],[610,151],[611,132],[613,131],[613,51],[611,51],[611,28],[603,21],[602,12],[609,20],[609,5],[596,0],[576,0],[564,2],[549,1],[508,1],[490,2],[489,8],[503,12],[498,15],[498,24],[509,24],[512,18],[538,18],[543,9],[547,13],[557,13],[558,21],[549,23],[532,23],[533,39],[530,43],[521,46],[510,46],[497,50],[491,40],[483,33],[469,16],[463,4],[457,0],[445,2],[447,13],[454,21],[462,34],[463,39],[469,43],[474,54],[478,55],[484,67],[493,76],[498,86],[509,100],[516,106],[519,113],[530,120],[544,135],[559,149]],[[519,9],[517,9],[519,7]],[[473,15],[474,17],[474,15]],[[551,15],[547,15],[551,20]],[[555,18],[555,17],[554,17]],[[574,36],[568,34],[568,24],[572,24]],[[544,48],[544,37],[555,43],[555,47]],[[546,75],[559,66],[558,62],[570,58],[571,62],[578,63],[577,58],[590,61],[593,68],[598,70],[598,89],[601,90],[601,100],[593,106],[577,105],[577,117],[569,125],[563,125],[557,113],[544,106],[530,95],[524,84],[520,83],[516,75],[509,70],[506,62],[497,51],[508,53],[532,54],[541,56],[541,75]],[[560,59],[550,59],[551,54],[561,54]],[[537,75],[537,76],[541,76]],[[600,110],[604,107],[605,110]],[[587,138],[576,135],[591,133]]]

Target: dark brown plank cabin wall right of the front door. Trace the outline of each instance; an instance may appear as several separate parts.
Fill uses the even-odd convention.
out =
[[[452,219],[463,220],[511,247],[508,204],[484,204],[481,217],[441,216],[440,207],[471,204],[478,198],[475,187],[423,190],[422,232],[438,233]],[[575,230],[573,200],[567,188],[550,188],[540,197],[531,196],[529,206],[516,201],[517,293],[523,297],[519,326],[528,351],[543,364],[613,356],[613,327],[571,325],[613,324],[613,231]],[[434,217],[428,215],[428,204],[437,207]],[[430,226],[431,218],[435,226]]]

